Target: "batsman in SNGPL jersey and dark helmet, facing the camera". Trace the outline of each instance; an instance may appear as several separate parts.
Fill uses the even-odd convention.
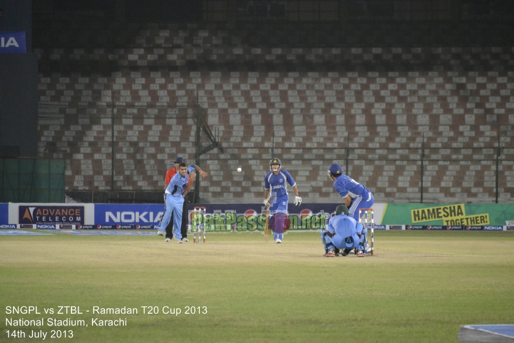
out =
[[[292,179],[291,174],[281,170],[281,166],[280,159],[271,159],[269,161],[270,172],[264,177],[264,206],[268,205],[268,197],[273,193],[275,194],[268,213],[268,215],[275,215],[274,220],[270,221],[272,223],[275,243],[282,243],[284,237],[284,221],[287,216],[287,203],[289,202],[286,182],[295,191],[295,205],[300,206],[302,204],[302,198],[298,195],[298,187],[295,180]],[[277,213],[279,215],[276,215]]]

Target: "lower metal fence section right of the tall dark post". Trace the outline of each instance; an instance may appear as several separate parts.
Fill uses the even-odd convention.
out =
[[[230,149],[227,149],[230,150]],[[238,155],[237,148],[232,155]],[[249,160],[216,158],[203,160],[210,173],[200,186],[202,200],[209,203],[254,203],[264,198],[264,176],[269,171],[271,149],[255,149],[262,158]],[[264,151],[263,151],[264,150]],[[375,202],[384,203],[512,203],[514,163],[512,149],[499,149],[491,158],[452,159],[405,149],[316,149],[321,153],[298,156],[286,149],[274,149],[282,169],[291,173],[304,202],[337,203],[341,197],[333,188],[327,170],[338,163],[343,171],[369,188]],[[305,150],[305,149],[303,149]],[[403,150],[403,151],[402,151]],[[429,149],[427,149],[429,150]],[[482,149],[474,149],[478,153]],[[402,153],[398,154],[401,151]],[[473,151],[472,151],[473,152]],[[244,155],[244,154],[240,154]],[[322,155],[329,156],[321,157]],[[242,167],[242,172],[237,172]],[[289,187],[289,193],[291,194]]]

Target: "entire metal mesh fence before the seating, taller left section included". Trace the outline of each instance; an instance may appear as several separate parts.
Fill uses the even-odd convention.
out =
[[[40,111],[45,114],[40,117],[44,137],[40,153],[42,157],[66,160],[67,193],[79,198],[80,193],[89,194],[84,195],[87,201],[159,202],[164,175],[173,167],[174,158],[182,156],[188,164],[196,163],[209,173],[199,182],[198,196],[192,200],[195,202],[261,202],[271,157],[282,160],[282,169],[295,178],[304,202],[341,201],[327,177],[332,163],[339,163],[345,173],[372,190],[376,202],[514,202],[514,148],[501,139],[510,132],[498,130],[498,136],[482,146],[473,140],[465,145],[447,140],[434,148],[425,144],[427,139],[415,131],[417,127],[412,127],[414,143],[402,145],[409,148],[391,148],[387,143],[371,145],[368,141],[372,138],[360,137],[356,128],[346,127],[342,135],[328,130],[325,142],[337,142],[330,147],[302,143],[297,148],[273,138],[287,138],[291,133],[285,131],[294,129],[292,125],[281,129],[268,125],[262,130],[270,132],[271,137],[254,133],[253,138],[263,138],[255,142],[244,142],[234,132],[226,133],[227,128],[213,127],[214,132],[219,129],[224,152],[210,151],[198,159],[197,130],[188,107],[97,106],[94,114],[85,107],[79,110],[75,115]],[[53,134],[47,135],[47,129]],[[240,130],[237,134],[248,128]],[[317,134],[309,131],[308,125],[305,130],[303,136]],[[437,134],[435,128],[430,133]],[[201,147],[210,143],[200,137]],[[361,148],[365,146],[376,148]],[[238,167],[243,171],[237,172]]]

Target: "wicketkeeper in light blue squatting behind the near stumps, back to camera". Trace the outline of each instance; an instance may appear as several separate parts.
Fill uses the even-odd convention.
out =
[[[326,230],[321,231],[321,241],[325,247],[324,257],[334,257],[336,251],[346,256],[353,249],[356,256],[364,257],[368,233],[362,224],[348,215],[346,206],[339,205],[336,208],[336,215],[328,221]]]

